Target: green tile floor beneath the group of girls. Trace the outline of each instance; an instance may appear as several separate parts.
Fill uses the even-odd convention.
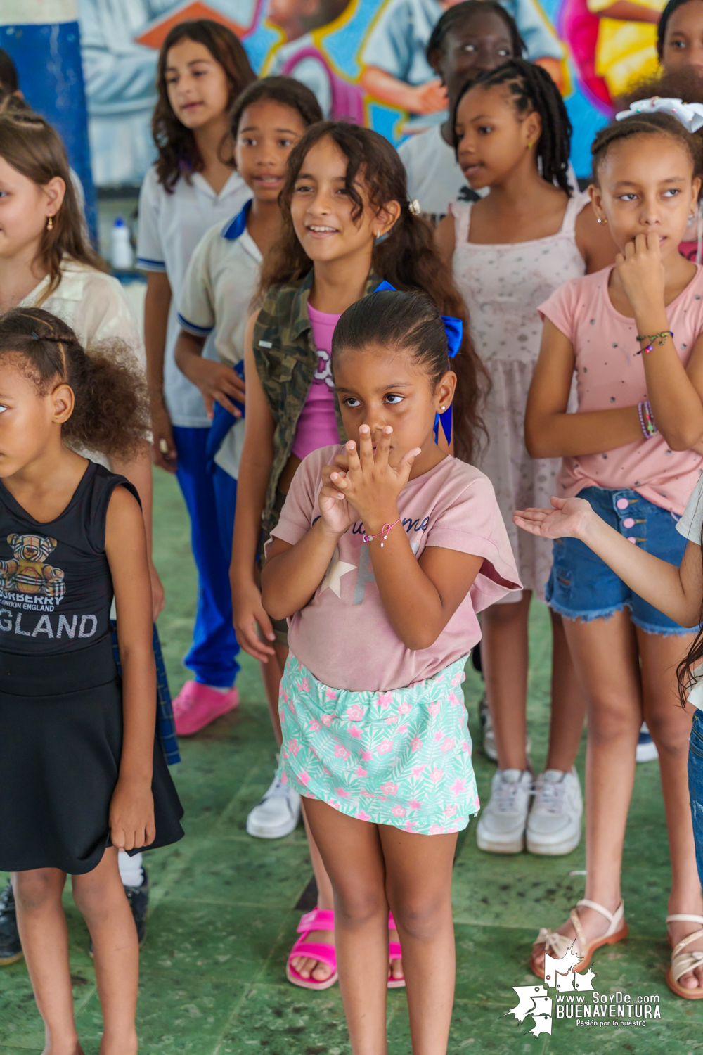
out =
[[[158,473],[156,560],[167,589],[159,629],[172,690],[185,672],[195,610],[195,574],[185,513],[176,483]],[[534,607],[529,722],[535,766],[544,762],[548,721],[549,640],[546,610]],[[335,986],[308,993],[288,984],[284,967],[300,908],[311,906],[302,829],[276,842],[251,839],[247,812],[268,786],[274,743],[257,669],[245,657],[241,706],[182,743],[176,782],[185,807],[185,839],[149,856],[152,903],[141,958],[139,1035],[148,1055],[348,1055]],[[477,675],[466,698],[476,732]],[[474,753],[486,797],[494,767]],[[583,749],[580,757],[583,772]],[[583,1029],[554,1020],[551,1036],[528,1033],[504,1017],[513,985],[530,985],[531,942],[556,925],[583,896],[583,846],[565,858],[497,858],[476,849],[473,826],[461,837],[454,868],[456,1000],[449,1051],[514,1055],[687,1055],[703,1052],[703,1004],[678,1000],[664,983],[668,852],[658,767],[638,767],[625,844],[627,942],[597,953],[594,985],[660,998],[661,1020],[642,1029]],[[0,876],[4,882],[4,876]],[[86,1055],[97,1055],[100,1009],[85,926],[65,899],[76,1014]],[[297,906],[297,907],[296,907]],[[405,994],[388,1000],[389,1051],[410,1052]],[[40,1052],[43,1035],[23,963],[0,968],[0,1055]]]

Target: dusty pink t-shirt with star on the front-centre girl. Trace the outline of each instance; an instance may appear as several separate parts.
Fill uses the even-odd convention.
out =
[[[276,538],[295,544],[319,517],[323,466],[343,449],[337,443],[315,450],[298,466],[272,532]],[[393,531],[407,532],[416,556],[426,545],[471,553],[484,557],[481,572],[436,641],[408,649],[386,615],[357,520],[339,539],[310,603],[288,620],[292,653],[325,685],[386,692],[432,677],[481,639],[476,612],[521,589],[493,487],[473,465],[443,459],[405,485],[398,513],[402,524]]]

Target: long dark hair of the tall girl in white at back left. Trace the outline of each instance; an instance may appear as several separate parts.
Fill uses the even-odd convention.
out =
[[[156,175],[168,193],[173,193],[179,176],[183,176],[190,183],[191,174],[200,172],[203,165],[192,130],[181,124],[169,101],[165,81],[167,60],[171,49],[181,40],[203,44],[215,61],[221,65],[230,89],[228,110],[242,89],[256,80],[256,74],[250,65],[239,38],[226,25],[208,18],[197,18],[173,26],[159,52],[156,75],[158,98],[152,117],[152,134],[158,151]],[[220,150],[222,147],[223,142],[220,145]],[[231,156],[222,160],[234,169],[234,159]]]

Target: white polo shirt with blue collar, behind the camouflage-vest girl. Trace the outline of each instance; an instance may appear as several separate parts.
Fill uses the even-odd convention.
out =
[[[245,358],[245,331],[262,258],[247,230],[251,205],[247,202],[234,218],[203,235],[191,256],[180,294],[179,324],[195,337],[212,333],[219,360],[228,366]],[[243,439],[240,420],[215,455],[215,463],[235,479]]]

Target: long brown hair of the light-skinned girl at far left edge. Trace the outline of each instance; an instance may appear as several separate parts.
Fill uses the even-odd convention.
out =
[[[108,266],[85,235],[66,152],[48,121],[26,110],[0,113],[0,157],[38,187],[45,187],[57,176],[65,186],[61,208],[53,217],[52,230],[44,228],[41,236],[39,255],[48,271],[48,286],[42,300],[51,296],[60,283],[61,264],[65,257],[98,271],[106,271]]]

